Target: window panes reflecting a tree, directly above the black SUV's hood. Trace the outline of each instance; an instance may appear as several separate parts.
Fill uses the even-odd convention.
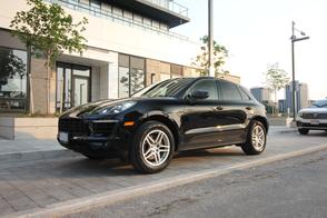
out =
[[[127,98],[145,88],[145,59],[119,54],[119,98]]]

